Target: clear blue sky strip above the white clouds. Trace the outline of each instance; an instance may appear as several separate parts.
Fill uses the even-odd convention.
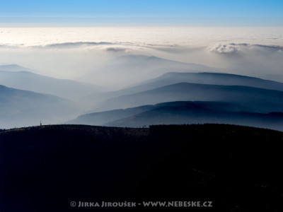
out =
[[[0,27],[283,25],[282,0],[0,0]]]

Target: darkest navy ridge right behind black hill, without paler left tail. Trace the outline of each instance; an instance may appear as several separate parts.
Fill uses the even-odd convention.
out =
[[[91,117],[89,117],[91,118]],[[283,112],[241,112],[224,102],[166,102],[151,110],[117,119],[105,126],[141,127],[154,124],[238,124],[283,131]]]

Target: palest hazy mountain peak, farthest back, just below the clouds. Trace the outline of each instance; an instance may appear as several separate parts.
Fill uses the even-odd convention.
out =
[[[212,71],[214,69],[200,64],[187,64],[179,61],[148,57],[144,55],[126,55],[108,61],[100,69],[93,70],[81,76],[79,81],[96,85],[109,84],[111,88],[119,89],[133,86],[149,78],[156,78],[169,71]]]

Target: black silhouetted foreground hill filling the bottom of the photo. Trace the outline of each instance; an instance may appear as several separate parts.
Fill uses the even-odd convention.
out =
[[[282,211],[282,141],[279,131],[223,124],[2,131],[0,209],[113,211],[70,203],[213,201],[212,208],[183,209]],[[115,211],[125,209],[131,211]]]

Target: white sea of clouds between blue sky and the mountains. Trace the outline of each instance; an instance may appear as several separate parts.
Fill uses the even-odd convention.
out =
[[[129,54],[283,81],[283,28],[0,28],[0,64],[79,78]]]

